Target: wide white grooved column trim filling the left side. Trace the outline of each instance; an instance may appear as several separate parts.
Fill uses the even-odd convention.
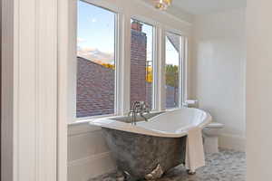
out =
[[[3,181],[56,181],[57,1],[3,0]]]

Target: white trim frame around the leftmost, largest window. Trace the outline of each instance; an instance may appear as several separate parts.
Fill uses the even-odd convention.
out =
[[[73,121],[71,121],[70,123],[73,122],[82,122],[83,120],[89,121],[90,119],[96,119],[96,118],[106,118],[106,117],[112,117],[112,116],[118,116],[121,115],[121,91],[122,91],[122,80],[121,80],[121,60],[122,60],[122,26],[123,26],[123,15],[121,13],[119,13],[120,8],[117,8],[114,5],[109,5],[105,2],[97,2],[97,1],[92,1],[92,0],[81,0],[84,3],[90,4],[90,5],[94,5],[97,7],[100,7],[104,10],[110,11],[114,14],[114,66],[115,66],[115,78],[114,78],[114,112],[112,114],[105,114],[105,115],[97,115],[97,116],[91,116],[91,117],[83,117],[83,118],[77,118],[76,117],[76,86],[77,86],[77,78],[76,78],[76,72],[77,72],[77,62],[76,62],[76,57],[77,57],[77,52],[75,52],[75,47],[76,47],[76,37],[77,37],[77,0],[75,0],[75,4],[73,4],[73,18],[71,18],[73,20],[73,32],[74,35],[71,36],[73,37],[73,40],[71,39],[72,45],[71,45],[71,56],[73,57],[73,59],[75,60],[75,62],[73,63],[73,71],[71,74],[71,76],[73,76],[73,85],[75,87],[75,90],[73,91],[73,109],[74,109],[74,116],[73,116]]]

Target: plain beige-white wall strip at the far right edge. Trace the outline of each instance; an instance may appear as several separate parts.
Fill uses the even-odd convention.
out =
[[[247,181],[272,177],[272,1],[248,0]]]

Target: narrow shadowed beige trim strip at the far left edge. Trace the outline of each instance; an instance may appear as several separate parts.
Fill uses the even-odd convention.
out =
[[[16,93],[15,66],[17,61],[18,38],[15,30],[18,28],[18,2],[2,1],[2,115],[1,115],[1,180],[17,180],[17,131],[16,131]],[[11,60],[11,61],[8,61]]]

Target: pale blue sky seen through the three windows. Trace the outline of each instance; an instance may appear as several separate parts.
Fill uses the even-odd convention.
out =
[[[114,63],[115,14],[78,1],[77,51],[78,55],[94,62]],[[143,24],[142,32],[147,34],[147,60],[152,59],[153,27]],[[178,65],[179,53],[166,38],[166,62]]]

